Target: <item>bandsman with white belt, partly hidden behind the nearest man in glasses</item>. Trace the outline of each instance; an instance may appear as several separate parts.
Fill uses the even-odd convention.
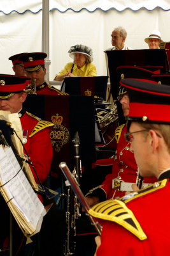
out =
[[[123,87],[120,87],[118,100],[122,104],[124,116],[127,116],[129,114],[129,97]],[[127,132],[126,124],[120,125],[115,131],[115,139],[118,144],[112,173],[106,176],[101,186],[92,188],[87,193],[86,199],[90,206],[107,199],[124,196],[126,191],[133,191],[132,184],[134,183],[139,186],[140,182],[142,188],[145,188],[157,180],[153,177],[143,179],[143,181],[139,179],[134,154],[129,150],[131,143],[124,139],[125,132]]]

